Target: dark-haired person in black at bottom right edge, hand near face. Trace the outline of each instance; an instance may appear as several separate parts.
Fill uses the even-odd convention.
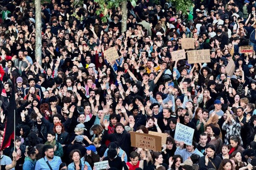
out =
[[[208,170],[209,168],[218,169],[221,164],[221,158],[216,156],[216,148],[214,145],[209,144],[206,147],[206,156],[199,159],[199,170]]]

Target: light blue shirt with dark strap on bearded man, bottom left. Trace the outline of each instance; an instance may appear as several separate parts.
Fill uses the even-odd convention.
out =
[[[39,159],[35,164],[35,170],[49,170],[50,168],[46,161],[48,161],[46,156],[44,156],[44,158]],[[52,167],[52,170],[58,170],[62,163],[61,158],[59,156],[54,156],[53,159],[48,162]]]

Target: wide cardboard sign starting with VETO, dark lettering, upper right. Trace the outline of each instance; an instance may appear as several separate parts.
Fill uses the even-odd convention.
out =
[[[211,62],[209,49],[187,51],[187,55],[189,64]]]

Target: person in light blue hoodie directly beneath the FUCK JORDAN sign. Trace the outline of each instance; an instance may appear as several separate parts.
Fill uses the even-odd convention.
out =
[[[185,147],[185,149],[184,149]],[[192,154],[198,154],[199,156],[204,156],[197,148],[196,144],[193,141],[192,145],[184,144],[184,142],[180,142],[179,147],[177,147],[175,151],[175,155],[180,155],[183,160],[188,159]]]

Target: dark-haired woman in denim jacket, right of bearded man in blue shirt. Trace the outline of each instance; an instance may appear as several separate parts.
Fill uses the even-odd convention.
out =
[[[68,170],[92,170],[87,161],[81,161],[81,152],[79,150],[72,150],[70,152],[70,159],[73,160],[67,168]]]

